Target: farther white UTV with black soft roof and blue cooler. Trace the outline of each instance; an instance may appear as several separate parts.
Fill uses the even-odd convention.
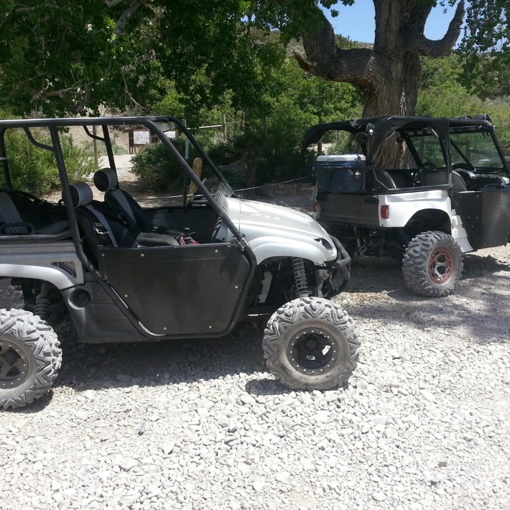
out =
[[[461,277],[463,253],[508,242],[510,171],[488,115],[319,124],[303,154],[328,131],[347,132],[360,150],[313,165],[316,217],[349,253],[401,260],[410,289],[440,297]],[[401,167],[374,166],[391,144],[406,149]]]

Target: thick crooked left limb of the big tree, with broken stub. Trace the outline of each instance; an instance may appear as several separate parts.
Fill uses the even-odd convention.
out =
[[[349,82],[364,88],[370,86],[373,52],[369,48],[340,49],[336,47],[331,23],[320,13],[320,27],[303,34],[304,58],[294,52],[304,71],[335,82]]]

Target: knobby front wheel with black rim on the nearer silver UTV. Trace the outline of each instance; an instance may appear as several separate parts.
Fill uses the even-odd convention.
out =
[[[269,319],[262,347],[282,384],[301,390],[346,387],[360,341],[354,321],[328,299],[294,299]]]

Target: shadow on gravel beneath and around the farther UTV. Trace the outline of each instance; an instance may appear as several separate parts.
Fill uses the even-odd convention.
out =
[[[444,298],[415,295],[404,286],[400,266],[391,260],[361,259],[352,266],[346,300],[354,318],[377,319],[390,329],[409,327],[435,335],[468,335],[467,343],[510,342],[510,265],[492,256],[468,254],[464,277]],[[382,292],[386,291],[386,292]],[[374,294],[364,295],[363,293]],[[342,296],[339,297],[342,301]]]

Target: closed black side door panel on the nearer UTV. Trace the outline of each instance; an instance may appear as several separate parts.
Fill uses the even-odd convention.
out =
[[[219,336],[250,284],[244,251],[227,243],[99,249],[101,276],[151,333]]]

